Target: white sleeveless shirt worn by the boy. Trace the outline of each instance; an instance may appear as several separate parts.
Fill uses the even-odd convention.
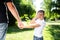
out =
[[[44,20],[40,20],[40,19],[37,19],[35,22],[37,24],[40,24],[40,26],[36,27],[34,29],[34,36],[36,36],[36,37],[42,37],[43,36],[42,35],[42,31],[43,31],[43,29],[45,27],[46,22]]]

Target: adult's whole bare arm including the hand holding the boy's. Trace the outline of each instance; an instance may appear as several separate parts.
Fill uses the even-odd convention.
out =
[[[17,20],[17,22],[18,22],[18,27],[20,28],[21,25],[23,25],[23,24],[22,24],[22,22],[21,22],[20,16],[19,16],[19,14],[18,14],[18,11],[17,11],[14,3],[13,3],[13,2],[6,2],[6,5],[7,5],[9,11],[11,12],[11,14],[12,14],[12,15],[15,17],[15,19]]]

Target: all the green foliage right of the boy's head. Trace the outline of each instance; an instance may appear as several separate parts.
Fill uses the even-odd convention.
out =
[[[45,17],[48,20],[60,19],[60,0],[44,0]],[[47,16],[48,15],[48,16]]]

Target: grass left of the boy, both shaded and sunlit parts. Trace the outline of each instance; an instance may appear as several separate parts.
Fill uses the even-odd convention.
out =
[[[8,28],[6,40],[32,40],[33,29],[19,29],[16,26]]]

